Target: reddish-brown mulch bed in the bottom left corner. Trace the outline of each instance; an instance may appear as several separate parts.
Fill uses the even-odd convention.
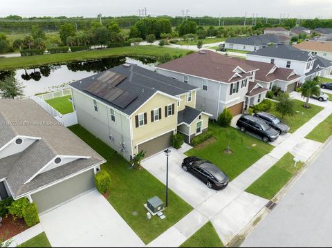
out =
[[[14,220],[12,216],[8,215],[7,217],[3,217],[1,221],[0,238],[1,240],[8,240],[17,234],[26,231],[26,229],[28,229],[28,226],[23,219],[17,218]]]

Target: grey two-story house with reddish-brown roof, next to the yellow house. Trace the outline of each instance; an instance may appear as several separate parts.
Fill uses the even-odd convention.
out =
[[[243,113],[249,82],[254,82],[257,70],[243,59],[234,59],[210,50],[201,50],[157,66],[158,73],[200,88],[196,107],[212,113],[214,119],[225,108],[233,116]],[[266,91],[253,96],[257,98],[255,102],[259,97],[264,99]]]

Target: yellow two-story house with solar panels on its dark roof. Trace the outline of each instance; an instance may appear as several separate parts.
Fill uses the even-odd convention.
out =
[[[70,84],[78,123],[127,160],[172,146],[177,132],[208,130],[210,115],[196,110],[197,87],[132,64]]]

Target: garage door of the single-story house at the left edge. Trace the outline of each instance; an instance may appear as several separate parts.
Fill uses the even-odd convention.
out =
[[[43,191],[39,191],[31,195],[31,197],[33,202],[37,204],[39,213],[43,213],[94,187],[94,171],[91,169]]]

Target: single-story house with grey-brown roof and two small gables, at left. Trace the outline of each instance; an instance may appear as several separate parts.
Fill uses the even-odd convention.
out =
[[[39,213],[95,187],[105,160],[30,99],[0,99],[0,196]]]

